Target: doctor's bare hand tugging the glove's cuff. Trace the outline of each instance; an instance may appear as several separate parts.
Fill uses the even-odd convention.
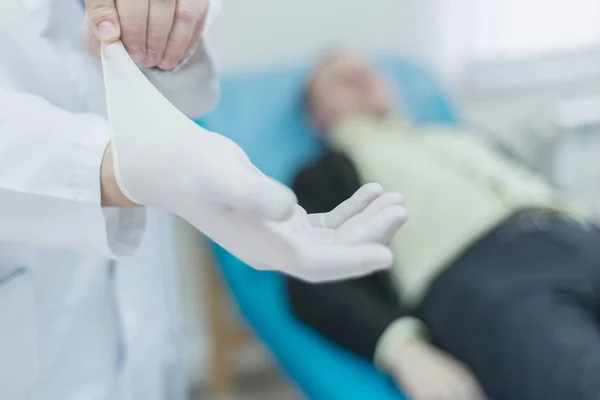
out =
[[[121,40],[138,65],[174,68],[200,43],[209,0],[86,0],[83,40],[99,56],[100,43]]]

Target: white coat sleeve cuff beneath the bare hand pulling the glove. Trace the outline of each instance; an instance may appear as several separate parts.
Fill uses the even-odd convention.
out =
[[[219,99],[219,80],[207,33],[220,13],[221,0],[210,0],[202,42],[176,71],[144,70],[146,77],[173,105],[190,118],[199,118]]]

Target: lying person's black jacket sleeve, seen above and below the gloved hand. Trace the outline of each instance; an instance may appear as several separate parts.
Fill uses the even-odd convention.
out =
[[[360,186],[350,159],[327,151],[296,176],[293,190],[306,211],[320,213],[337,207]],[[288,298],[298,318],[334,342],[372,359],[377,341],[390,322],[406,315],[390,278],[388,271],[380,271],[325,284],[291,277],[286,281]]]

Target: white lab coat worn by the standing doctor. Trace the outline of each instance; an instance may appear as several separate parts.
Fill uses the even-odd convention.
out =
[[[80,0],[0,1],[0,399],[174,400],[172,220],[148,210],[145,230],[143,209],[100,207],[108,128],[83,12]],[[188,114],[216,101],[206,47],[148,76]]]

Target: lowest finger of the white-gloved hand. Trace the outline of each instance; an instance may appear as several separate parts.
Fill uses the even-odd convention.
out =
[[[360,277],[388,268],[393,261],[391,250],[378,244],[315,246],[307,250],[300,265],[306,273],[294,275],[309,282]]]

